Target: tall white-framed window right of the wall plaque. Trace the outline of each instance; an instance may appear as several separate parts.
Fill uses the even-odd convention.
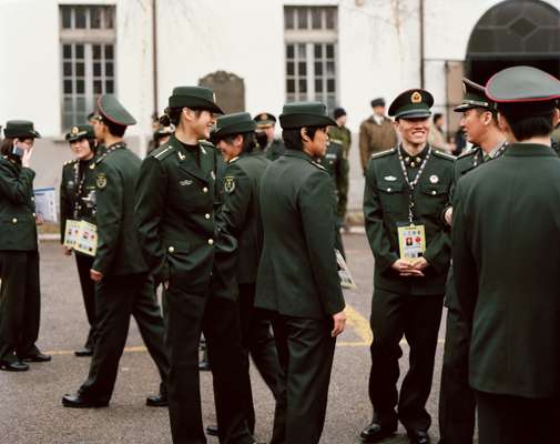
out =
[[[285,7],[286,101],[337,104],[336,7]]]

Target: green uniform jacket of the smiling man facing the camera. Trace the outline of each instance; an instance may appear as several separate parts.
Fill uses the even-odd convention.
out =
[[[426,149],[427,150],[427,149]],[[441,221],[452,184],[454,157],[432,150],[414,190],[416,224],[424,224],[429,266],[425,278],[404,278],[391,269],[399,259],[398,224],[408,222],[409,186],[396,148],[374,154],[366,171],[364,216],[375,258],[374,285],[400,294],[444,294],[450,261],[449,233]]]

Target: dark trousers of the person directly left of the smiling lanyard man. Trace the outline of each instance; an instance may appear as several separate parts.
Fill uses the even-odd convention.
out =
[[[271,444],[316,444],[325,425],[335,353],[333,321],[275,314],[272,325],[281,373]]]

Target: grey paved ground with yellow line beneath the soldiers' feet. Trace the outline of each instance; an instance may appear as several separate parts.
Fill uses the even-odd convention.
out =
[[[354,444],[357,433],[370,421],[367,397],[369,371],[368,317],[371,297],[373,258],[365,235],[345,236],[349,266],[358,285],[346,292],[349,325],[338,340],[330,384],[327,421],[322,443]],[[34,364],[30,372],[0,372],[1,444],[101,444],[171,443],[165,408],[144,406],[145,396],[157,390],[157,374],[133,323],[128,350],[121,361],[116,389],[109,408],[68,410],[60,398],[75,391],[86,376],[89,359],[78,359],[72,351],[82,345],[86,322],[79,292],[73,259],[62,255],[55,243],[41,246],[42,325],[39,345],[53,354],[48,364]],[[441,369],[444,331],[440,331],[434,390],[428,410],[432,414],[431,436],[437,441],[437,396]],[[406,350],[406,346],[404,346]],[[407,355],[401,360],[406,367]],[[266,442],[272,428],[274,403],[257,374],[253,375],[257,412],[256,436]],[[204,421],[214,423],[212,383],[201,374]],[[400,435],[387,444],[407,443]],[[217,443],[210,438],[208,443]],[[305,443],[302,443],[305,444]]]

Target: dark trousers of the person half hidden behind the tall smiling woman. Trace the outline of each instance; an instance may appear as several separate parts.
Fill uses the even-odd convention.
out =
[[[240,284],[241,340],[246,360],[253,357],[258,373],[271,390],[274,398],[278,395],[279,362],[271,332],[271,321],[264,311],[255,309],[255,284]],[[248,361],[247,361],[248,371]],[[247,425],[255,430],[255,408],[251,381],[248,384]]]

